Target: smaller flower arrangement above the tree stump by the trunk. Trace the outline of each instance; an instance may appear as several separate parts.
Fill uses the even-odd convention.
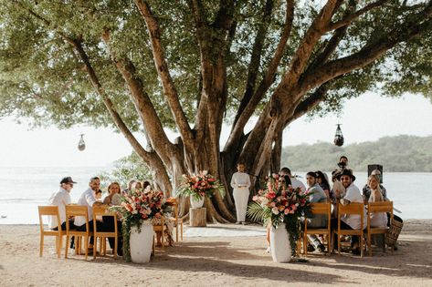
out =
[[[212,197],[215,191],[218,191],[222,197],[225,196],[224,187],[214,176],[204,170],[198,174],[184,174],[183,180],[177,190],[177,196],[191,196],[195,200],[202,200],[205,196]]]

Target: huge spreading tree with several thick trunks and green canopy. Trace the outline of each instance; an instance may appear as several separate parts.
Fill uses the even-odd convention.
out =
[[[279,169],[282,131],[306,113],[376,88],[398,96],[431,86],[431,1],[0,6],[0,116],[116,128],[168,195],[184,173],[208,169],[228,186],[238,161],[253,181]],[[205,205],[209,219],[235,220],[230,192]]]

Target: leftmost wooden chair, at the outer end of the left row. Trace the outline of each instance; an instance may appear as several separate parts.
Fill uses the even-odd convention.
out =
[[[40,248],[39,256],[42,257],[44,251],[44,238],[45,236],[55,236],[56,237],[56,251],[58,258],[61,254],[61,244],[63,235],[66,235],[66,231],[61,230],[60,214],[58,213],[58,206],[38,206],[39,211],[39,225],[40,225]],[[57,218],[58,231],[53,231],[51,229],[46,230],[44,228],[43,216],[55,216]],[[68,241],[66,241],[66,246],[68,246]]]

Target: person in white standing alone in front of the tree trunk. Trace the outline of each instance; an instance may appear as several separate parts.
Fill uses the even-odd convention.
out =
[[[237,172],[233,174],[231,179],[231,187],[233,190],[234,203],[236,204],[237,222],[236,224],[245,224],[246,209],[248,208],[250,178],[245,172],[243,163],[237,164]]]

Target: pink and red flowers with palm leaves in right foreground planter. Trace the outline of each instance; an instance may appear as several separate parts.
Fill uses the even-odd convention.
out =
[[[300,188],[293,189],[280,182],[283,177],[273,174],[267,179],[267,188],[258,190],[248,206],[248,216],[255,221],[263,221],[264,226],[278,227],[285,223],[290,235],[293,257],[297,256],[297,241],[300,238],[300,217],[310,214],[309,197]]]

